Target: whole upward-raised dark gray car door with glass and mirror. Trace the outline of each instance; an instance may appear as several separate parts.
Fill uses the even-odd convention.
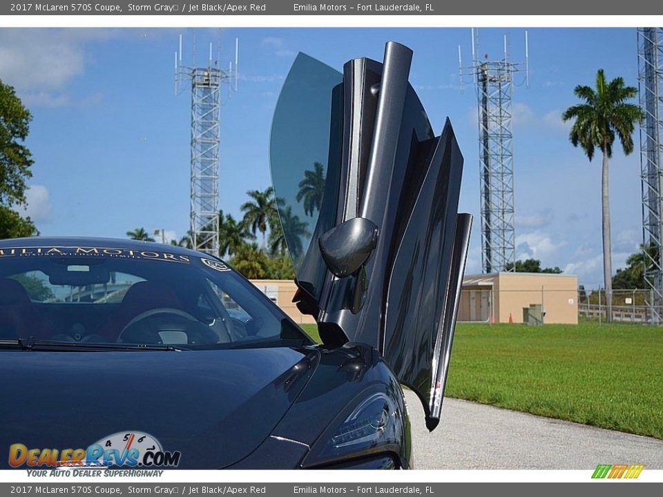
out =
[[[438,422],[472,218],[463,157],[408,83],[412,51],[343,74],[298,55],[273,118],[271,175],[296,302],[329,347],[364,342]]]

